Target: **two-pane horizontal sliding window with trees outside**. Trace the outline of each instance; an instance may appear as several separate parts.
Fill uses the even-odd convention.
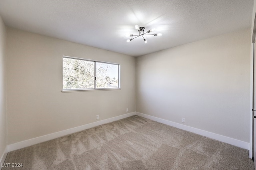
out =
[[[63,57],[63,91],[119,89],[119,64]]]

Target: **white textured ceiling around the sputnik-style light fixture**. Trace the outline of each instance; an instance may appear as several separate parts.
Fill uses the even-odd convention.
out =
[[[0,0],[7,26],[140,56],[250,28],[253,0]],[[138,34],[134,25],[163,36]]]

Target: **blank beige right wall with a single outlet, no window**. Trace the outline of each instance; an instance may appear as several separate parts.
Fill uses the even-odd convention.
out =
[[[136,111],[250,142],[250,37],[242,30],[136,59]],[[182,124],[182,123],[181,123]]]

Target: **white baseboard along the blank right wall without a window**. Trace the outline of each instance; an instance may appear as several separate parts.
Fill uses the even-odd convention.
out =
[[[172,121],[167,121],[165,119],[161,119],[161,118],[158,118],[158,117],[146,115],[146,114],[139,113],[139,112],[136,112],[136,115],[138,115],[140,117],[150,119],[152,121],[156,121],[156,122],[160,122],[160,123],[163,123],[163,124],[166,124],[166,125],[170,125],[172,127],[180,128],[182,130],[186,130],[186,131],[189,131],[189,132],[200,134],[200,135],[206,136],[208,138],[219,140],[221,142],[232,144],[234,146],[238,146],[240,148],[247,149],[250,152],[250,143],[247,143],[247,142],[244,142],[244,141],[241,141],[241,140],[237,140],[237,139],[230,138],[230,137],[227,137],[227,136],[222,136],[220,134],[208,132],[208,131],[201,130],[201,129],[198,129],[198,128],[189,127],[189,126],[182,125],[182,124],[179,124],[179,123],[175,123],[175,122],[172,122]]]

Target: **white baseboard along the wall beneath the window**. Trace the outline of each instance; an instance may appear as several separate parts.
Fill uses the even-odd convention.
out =
[[[9,144],[8,145],[8,152],[11,152],[11,151],[17,150],[17,149],[21,149],[21,148],[25,148],[25,147],[28,147],[28,146],[32,146],[34,144],[38,144],[38,143],[41,143],[41,142],[46,142],[48,140],[52,140],[52,139],[55,139],[55,138],[58,138],[58,137],[61,137],[61,136],[65,136],[65,135],[68,135],[68,134],[79,132],[79,131],[82,131],[82,130],[85,130],[85,129],[88,129],[88,128],[92,128],[92,127],[96,127],[96,126],[99,126],[99,125],[103,125],[105,123],[110,123],[110,122],[113,122],[113,121],[118,121],[120,119],[124,119],[126,117],[130,117],[130,116],[133,116],[133,115],[135,115],[135,112],[127,113],[125,115],[120,115],[120,116],[117,116],[117,117],[112,117],[112,118],[109,118],[109,119],[104,119],[102,121],[98,121],[98,122],[94,122],[94,123],[89,123],[89,124],[86,124],[86,125],[70,128],[70,129],[67,129],[67,130],[62,130],[60,132],[46,134],[44,136],[39,136],[39,137],[36,137],[36,138],[24,140],[22,142],[17,142],[17,143],[14,143],[14,144]]]

